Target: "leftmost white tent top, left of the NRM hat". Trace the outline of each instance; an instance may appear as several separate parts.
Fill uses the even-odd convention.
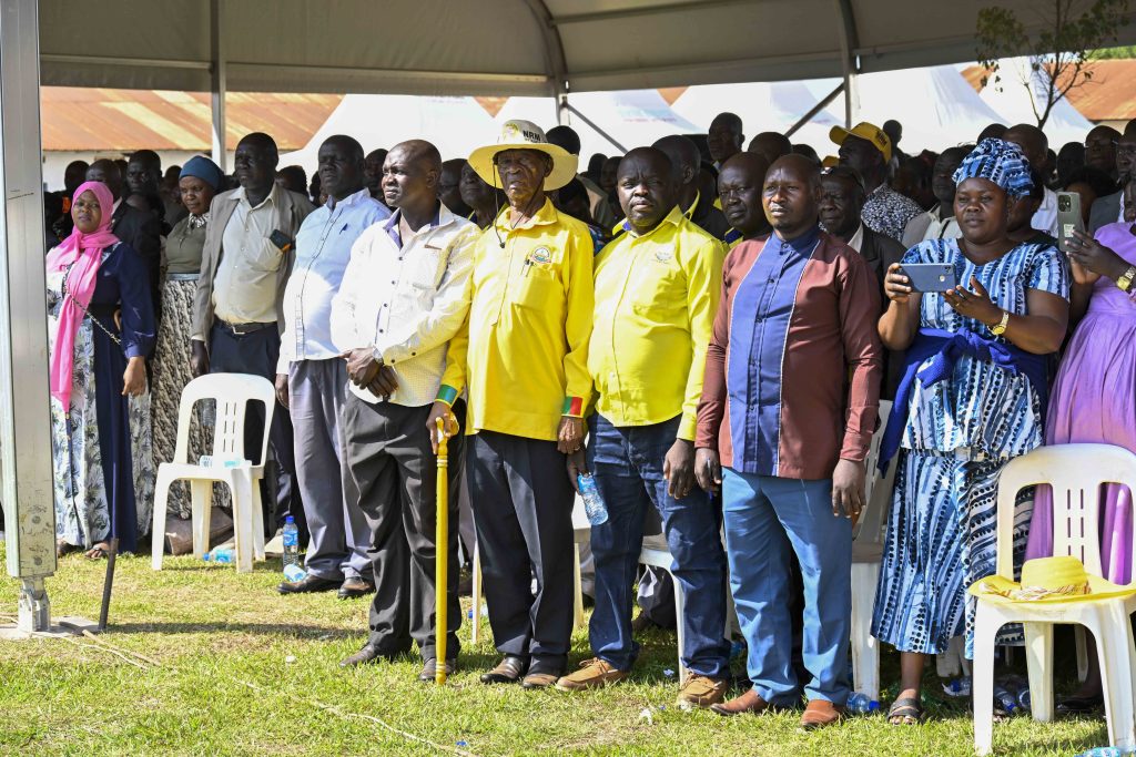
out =
[[[333,134],[353,136],[365,152],[424,138],[445,160],[465,158],[474,148],[493,141],[495,128],[488,112],[473,98],[349,94],[307,145],[281,155],[281,166],[303,166],[310,174],[317,165],[319,145]]]

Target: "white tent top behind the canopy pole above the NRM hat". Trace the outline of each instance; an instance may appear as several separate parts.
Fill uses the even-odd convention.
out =
[[[696,125],[676,113],[655,90],[628,92],[584,92],[568,98],[569,104],[599,126],[623,146],[612,144],[603,134],[590,126],[584,118],[568,111],[565,123],[571,126],[580,141],[580,160],[600,152],[605,155],[623,154],[626,150],[648,145],[668,134],[696,134]],[[509,98],[495,120],[501,124],[510,118],[531,120],[548,131],[556,126],[556,101],[551,98]]]

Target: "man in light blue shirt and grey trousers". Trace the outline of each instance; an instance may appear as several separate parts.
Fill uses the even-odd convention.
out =
[[[332,342],[332,298],[340,289],[351,246],[391,211],[364,184],[362,148],[331,136],[319,146],[319,178],[327,204],[295,237],[295,264],[284,289],[284,334],[276,397],[292,413],[296,478],[311,541],[300,581],[281,594],[339,589],[341,599],[375,589],[367,547],[370,530],[345,474],[339,418],[346,399],[346,364]]]

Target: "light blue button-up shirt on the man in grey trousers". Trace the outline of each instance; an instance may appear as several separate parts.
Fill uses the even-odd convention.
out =
[[[340,354],[332,338],[332,298],[340,291],[356,239],[390,217],[391,211],[362,188],[339,202],[328,199],[304,219],[284,287],[284,334],[276,372],[287,373],[293,361]]]

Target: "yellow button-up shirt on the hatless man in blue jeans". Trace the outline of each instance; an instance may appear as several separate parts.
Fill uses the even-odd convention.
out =
[[[694,440],[725,255],[721,242],[675,208],[651,232],[627,230],[595,259],[587,370],[596,411],[615,426],[680,413],[678,437]]]

